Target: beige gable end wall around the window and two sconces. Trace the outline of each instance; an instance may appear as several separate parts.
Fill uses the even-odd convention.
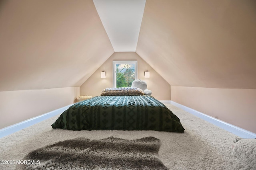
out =
[[[80,86],[80,95],[98,96],[104,88],[113,87],[113,61],[138,61],[138,79],[144,80],[148,84],[148,89],[152,91],[152,96],[158,100],[170,100],[170,84],[168,84],[152,67],[150,67],[135,52],[114,53],[96,72]],[[100,78],[100,72],[106,71],[106,78]],[[150,78],[144,78],[144,71],[150,71]]]

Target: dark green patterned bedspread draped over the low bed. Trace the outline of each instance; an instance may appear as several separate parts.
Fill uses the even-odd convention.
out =
[[[184,132],[180,119],[152,96],[96,96],[64,111],[52,128]]]

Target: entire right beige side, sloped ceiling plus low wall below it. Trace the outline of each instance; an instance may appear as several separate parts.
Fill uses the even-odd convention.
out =
[[[171,85],[171,100],[255,133],[255,7],[147,0],[136,53]]]

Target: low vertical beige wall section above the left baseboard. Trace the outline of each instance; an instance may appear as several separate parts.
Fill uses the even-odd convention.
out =
[[[0,92],[0,129],[77,102],[79,87]]]

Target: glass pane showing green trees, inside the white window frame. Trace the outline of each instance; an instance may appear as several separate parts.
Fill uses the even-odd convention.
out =
[[[116,87],[131,87],[135,80],[135,64],[116,64]]]

